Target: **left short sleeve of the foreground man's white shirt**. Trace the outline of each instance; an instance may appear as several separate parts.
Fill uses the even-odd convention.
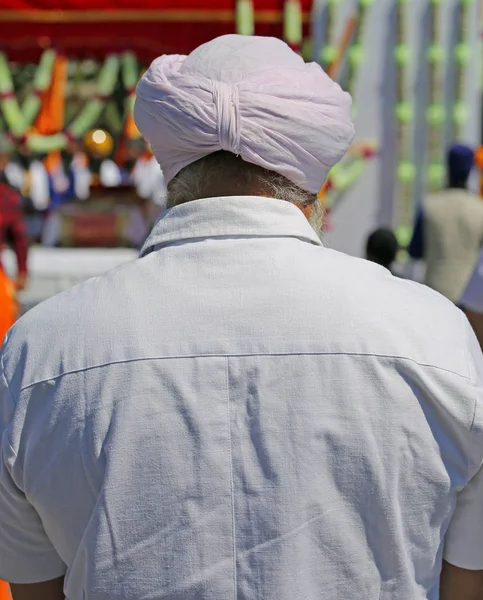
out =
[[[9,423],[14,408],[0,362],[0,580],[38,583],[61,577],[66,567],[12,476],[16,457],[9,440]]]

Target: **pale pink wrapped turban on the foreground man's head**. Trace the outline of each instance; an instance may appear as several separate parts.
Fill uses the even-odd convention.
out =
[[[350,111],[349,94],[284,42],[226,35],[157,58],[134,116],[167,182],[226,150],[317,193],[353,139]]]

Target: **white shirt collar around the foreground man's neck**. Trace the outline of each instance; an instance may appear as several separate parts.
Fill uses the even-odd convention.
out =
[[[241,236],[294,237],[322,246],[295,205],[273,198],[230,196],[195,200],[162,213],[141,256],[186,240]]]

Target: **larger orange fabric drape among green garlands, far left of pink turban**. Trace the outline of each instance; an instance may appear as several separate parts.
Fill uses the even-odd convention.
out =
[[[64,128],[67,66],[67,57],[62,55],[57,56],[52,74],[52,83],[44,95],[42,108],[35,124],[35,130],[41,135],[58,133]],[[49,173],[55,171],[60,163],[60,152],[51,152],[44,161],[45,168]]]

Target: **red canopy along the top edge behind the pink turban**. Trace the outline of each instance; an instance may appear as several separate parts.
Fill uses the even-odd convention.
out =
[[[256,33],[282,35],[283,0],[254,0]],[[102,57],[130,49],[147,61],[186,54],[235,31],[236,0],[0,0],[0,47],[9,58],[37,60],[54,45],[67,54]],[[310,20],[312,0],[302,0]]]

